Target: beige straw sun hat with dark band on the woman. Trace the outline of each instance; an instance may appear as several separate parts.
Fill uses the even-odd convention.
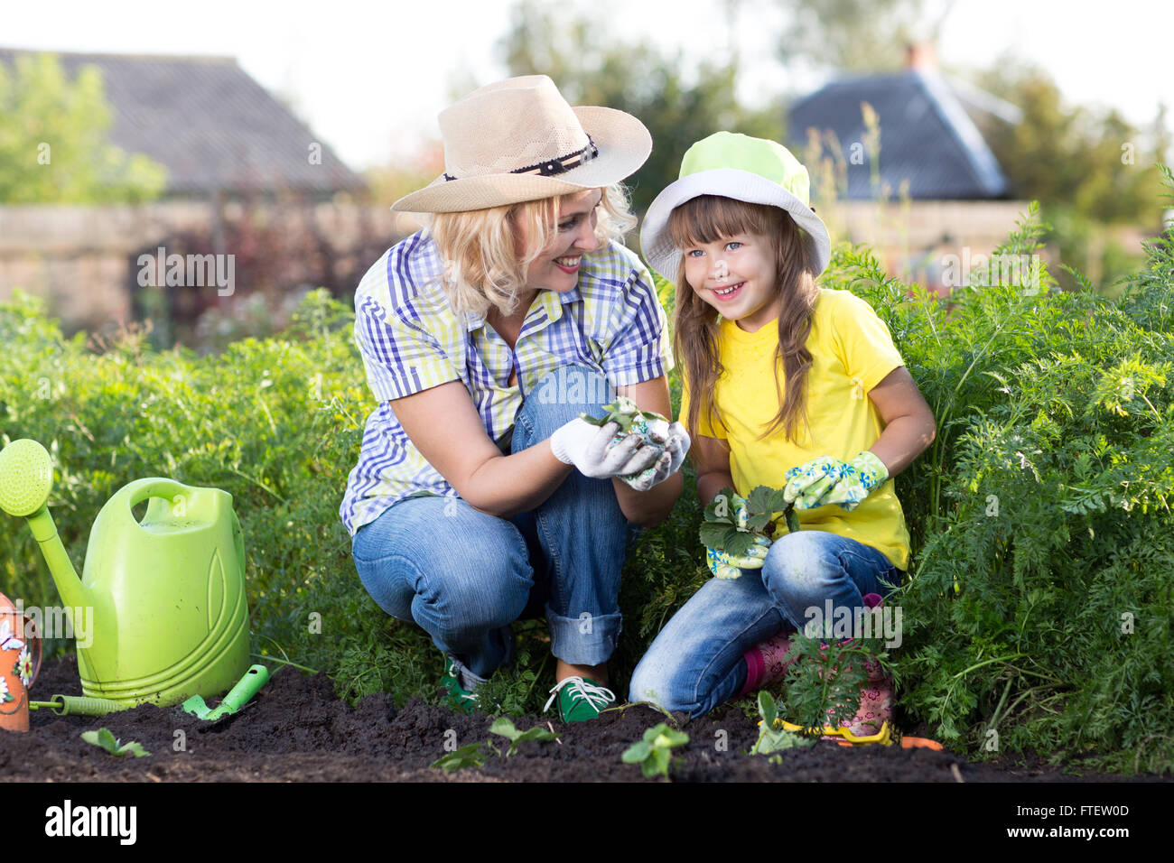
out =
[[[444,174],[391,209],[460,213],[598,189],[634,174],[653,148],[634,116],[572,108],[546,75],[481,87],[439,120]]]

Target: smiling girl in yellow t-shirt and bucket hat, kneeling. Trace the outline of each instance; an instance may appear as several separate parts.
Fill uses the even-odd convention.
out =
[[[731,486],[741,513],[755,486],[785,486],[802,531],[780,520],[744,558],[708,550],[715,578],[657,635],[632,701],[699,716],[781,680],[809,609],[830,600],[856,619],[904,577],[891,478],[933,440],[933,416],[868,303],[815,284],[829,240],[808,189],[785,148],[720,132],[688,150],[645,218],[645,256],[677,284],[681,417],[702,501]],[[880,731],[890,697],[870,663],[849,730]]]

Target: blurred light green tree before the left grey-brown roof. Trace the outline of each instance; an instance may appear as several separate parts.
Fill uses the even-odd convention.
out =
[[[122,203],[158,197],[167,170],[110,143],[101,73],[69,81],[52,54],[0,63],[0,203]]]

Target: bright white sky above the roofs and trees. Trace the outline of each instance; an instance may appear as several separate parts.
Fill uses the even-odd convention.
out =
[[[927,0],[943,8],[945,0]],[[626,36],[682,49],[691,68],[730,43],[723,0],[560,0],[618,22]],[[742,0],[734,43],[748,103],[783,89],[772,41],[782,4]],[[0,47],[141,54],[235,56],[270,90],[288,96],[303,120],[356,169],[403,157],[436,139],[437,113],[454,80],[504,77],[495,45],[511,0],[0,0]],[[620,27],[615,27],[618,29]],[[939,56],[947,66],[985,68],[1006,52],[1034,60],[1072,104],[1116,107],[1152,126],[1158,102],[1174,123],[1174,4],[1169,0],[957,0]],[[792,75],[785,89],[821,83]],[[194,122],[198,119],[194,117]]]

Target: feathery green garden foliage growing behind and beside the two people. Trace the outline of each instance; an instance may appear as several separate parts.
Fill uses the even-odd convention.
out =
[[[1174,187],[1174,175],[1167,171]],[[999,250],[1031,255],[1033,209]],[[913,538],[890,653],[906,724],[971,757],[1035,748],[1055,761],[1170,770],[1174,598],[1174,234],[1109,301],[1041,268],[942,301],[839,247],[823,284],[850,289],[888,323],[938,422],[897,478]],[[1080,279],[1078,279],[1080,281]],[[338,519],[373,402],[353,313],[312,292],[279,337],[216,357],[157,352],[140,330],[102,353],[63,339],[41,304],[0,304],[0,433],[49,446],[50,506],[75,566],[88,526],[122,485],[168,476],[230,492],[248,546],[255,652],[330,673],[340,695],[436,696],[440,656],[387,618],[355,573]],[[680,379],[669,377],[674,412]],[[708,569],[695,477],[670,518],[628,557],[613,688]],[[28,530],[0,518],[5,592],[59,600]],[[540,623],[518,627],[520,662],[486,696],[537,712],[553,683]],[[60,649],[61,645],[50,646]]]

